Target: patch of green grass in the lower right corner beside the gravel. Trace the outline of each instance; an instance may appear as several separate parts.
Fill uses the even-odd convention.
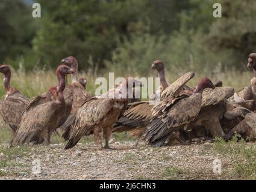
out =
[[[256,146],[255,143],[247,143],[240,139],[237,142],[237,136],[234,136],[229,142],[218,139],[214,143],[214,149],[223,154],[229,154],[232,157],[233,172],[235,179],[256,179]]]

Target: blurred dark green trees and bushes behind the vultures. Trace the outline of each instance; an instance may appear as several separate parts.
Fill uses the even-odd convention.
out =
[[[29,1],[33,2],[33,1]],[[173,73],[245,70],[255,52],[254,0],[39,0],[33,18],[25,0],[0,2],[0,62],[26,70],[56,68],[78,58],[80,70],[145,76],[163,59]]]

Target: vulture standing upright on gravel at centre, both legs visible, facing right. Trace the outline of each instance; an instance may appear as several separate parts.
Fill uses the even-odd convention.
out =
[[[111,136],[111,128],[117,118],[122,116],[129,101],[128,94],[133,91],[128,88],[128,85],[142,86],[142,83],[128,78],[121,83],[121,86],[90,98],[78,109],[70,130],[65,133],[65,137],[68,138],[65,149],[72,148],[81,137],[92,132],[99,149],[102,149],[103,137],[106,142],[104,148],[109,148],[108,139]]]

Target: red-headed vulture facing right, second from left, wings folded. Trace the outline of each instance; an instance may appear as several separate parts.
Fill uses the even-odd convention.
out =
[[[72,103],[66,103],[63,91],[66,86],[66,74],[72,74],[73,70],[67,65],[57,68],[58,86],[49,88],[46,94],[34,97],[22,115],[19,128],[11,140],[10,146],[50,143],[52,131],[66,121],[69,116]]]

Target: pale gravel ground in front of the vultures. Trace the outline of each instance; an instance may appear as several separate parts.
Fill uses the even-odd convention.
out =
[[[64,144],[27,146],[8,162],[10,166],[0,168],[0,179],[230,179],[231,158],[216,154],[213,143],[162,148],[133,145],[114,142],[113,149],[102,151],[93,143],[78,143],[66,151]],[[5,155],[0,152],[0,160]],[[216,158],[222,161],[220,175],[213,173]],[[40,164],[36,175],[35,164]]]

